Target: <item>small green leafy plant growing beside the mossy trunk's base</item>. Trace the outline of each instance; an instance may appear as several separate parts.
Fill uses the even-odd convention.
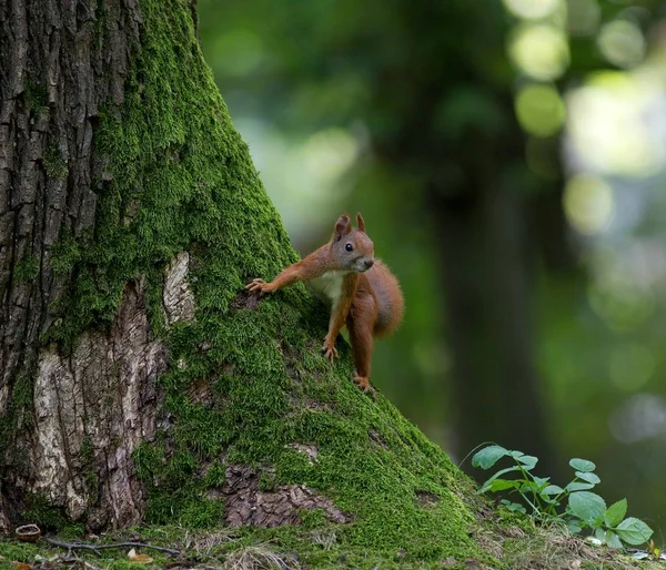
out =
[[[626,499],[606,507],[602,497],[589,491],[601,482],[594,472],[596,466],[592,461],[572,459],[569,466],[575,476],[564,488],[552,485],[549,477],[542,478],[532,474],[538,461],[536,457],[522,451],[511,451],[501,446],[484,447],[472,457],[472,465],[490,469],[504,457],[513,460],[513,467],[500,469],[481,486],[478,492],[506,491],[523,499],[524,505],[502,499],[501,503],[507,509],[525,513],[529,509],[529,516],[539,521],[562,521],[574,533],[589,529],[596,540],[610,548],[623,548],[623,542],[643,544],[652,537],[653,530],[645,522],[634,517],[625,519]],[[507,474],[513,474],[514,478],[505,479]],[[563,505],[566,505],[564,511]]]

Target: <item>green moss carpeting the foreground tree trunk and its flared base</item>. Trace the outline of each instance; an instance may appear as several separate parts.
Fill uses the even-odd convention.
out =
[[[494,519],[480,522],[471,481],[385,398],[353,386],[342,342],[335,365],[322,357],[323,306],[302,285],[249,303],[245,283],[272,278],[295,253],[202,59],[189,3],[140,4],[141,48],[124,102],[104,110],[94,135],[107,164],[94,182],[94,232],[62,235],[51,251],[53,268],[73,278],[43,338],[71,349],[83,330],[109,327],[128,282],[145,279],[152,327],[170,354],[159,379],[170,428],[134,454],[152,525],[139,532],[220,564],[263,548],[303,568],[505,567],[478,538],[483,525],[497,529]],[[168,328],[163,274],[182,251],[196,313]],[[315,460],[291,444],[316,448]],[[211,491],[229,464],[261,472],[264,490],[315,489],[351,522],[333,525],[315,510],[301,513],[299,527],[220,530],[223,502]],[[44,523],[40,512],[49,510],[30,522]],[[61,551],[44,548],[1,542],[0,564]],[[124,554],[103,556],[104,567],[132,566]]]

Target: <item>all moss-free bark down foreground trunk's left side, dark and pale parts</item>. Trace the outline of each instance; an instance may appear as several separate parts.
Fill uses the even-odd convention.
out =
[[[154,431],[143,406],[164,367],[163,347],[149,339],[141,285],[128,287],[108,334],[87,334],[67,356],[54,346],[39,350],[72,282],[51,265],[51,248],[63,235],[94,232],[110,175],[93,132],[100,109],[123,101],[141,16],[131,0],[12,0],[0,6],[0,418],[17,381],[34,379],[34,407],[17,410],[16,438],[3,450],[2,485],[43,491],[77,519],[98,492],[82,476],[94,465],[109,480],[92,519],[109,522],[114,495],[127,492],[112,518],[135,521],[141,492],[128,456]],[[129,373],[122,381],[119,370]]]

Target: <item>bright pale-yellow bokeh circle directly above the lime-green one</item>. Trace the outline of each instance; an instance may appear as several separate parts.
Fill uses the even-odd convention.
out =
[[[519,26],[508,52],[523,73],[541,81],[559,78],[569,63],[565,33],[545,23]]]

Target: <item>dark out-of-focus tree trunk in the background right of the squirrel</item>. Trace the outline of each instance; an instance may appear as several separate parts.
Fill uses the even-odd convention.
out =
[[[390,167],[413,174],[424,191],[453,356],[454,448],[464,457],[497,441],[552,468],[532,282],[539,254],[557,261],[561,252],[547,246],[561,240],[563,215],[554,201],[549,224],[529,234],[536,201],[525,186],[558,190],[535,182],[525,165],[504,55],[509,20],[492,0],[396,6],[403,28],[392,41],[402,58],[377,73],[373,109],[400,129],[377,130],[374,142]]]

